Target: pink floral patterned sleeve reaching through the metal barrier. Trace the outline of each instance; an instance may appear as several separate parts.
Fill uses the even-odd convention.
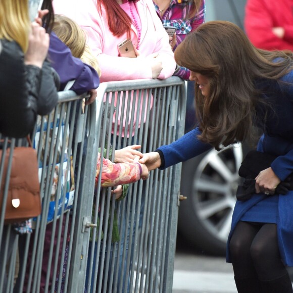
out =
[[[95,184],[99,178],[101,169],[101,154],[98,154]],[[116,186],[126,183],[134,183],[140,179],[141,166],[139,163],[119,163],[115,164],[108,159],[103,158],[102,167],[102,187]]]

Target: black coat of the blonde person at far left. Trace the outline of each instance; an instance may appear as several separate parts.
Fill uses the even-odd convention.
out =
[[[48,61],[42,68],[24,64],[15,41],[1,39],[0,133],[25,137],[33,130],[37,115],[50,113],[58,102],[59,78]]]

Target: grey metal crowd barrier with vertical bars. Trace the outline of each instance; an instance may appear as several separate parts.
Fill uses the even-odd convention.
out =
[[[89,106],[72,91],[59,94],[58,106],[38,117],[32,134],[42,197],[33,232],[18,235],[4,225],[3,204],[0,292],[171,292],[181,165],[130,184],[122,201],[111,187],[101,188],[101,174],[95,185],[95,169],[98,152],[114,160],[115,149],[141,144],[146,153],[180,137],[184,81],[102,83]],[[133,123],[139,109],[140,126]],[[119,119],[132,121],[125,126],[134,129],[130,138],[123,138]]]

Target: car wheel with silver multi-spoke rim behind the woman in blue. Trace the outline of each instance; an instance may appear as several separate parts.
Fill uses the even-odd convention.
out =
[[[178,231],[205,253],[224,255],[239,184],[241,144],[211,150],[182,164]]]

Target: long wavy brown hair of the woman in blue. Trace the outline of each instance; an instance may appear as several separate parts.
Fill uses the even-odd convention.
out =
[[[276,58],[281,59],[276,62]],[[211,21],[186,36],[175,50],[175,60],[209,78],[207,96],[202,95],[198,84],[195,86],[202,131],[199,138],[219,150],[221,145],[254,138],[256,105],[265,104],[256,82],[278,82],[292,69],[293,54],[259,50],[238,26]]]

